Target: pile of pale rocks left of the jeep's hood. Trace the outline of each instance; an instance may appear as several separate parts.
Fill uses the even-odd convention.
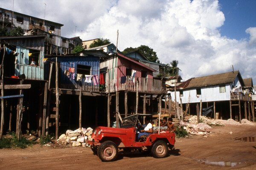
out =
[[[67,130],[66,134],[62,134],[58,141],[61,141],[64,144],[72,144],[73,147],[76,146],[82,146],[86,147],[85,140],[88,139],[89,141],[92,141],[91,135],[93,134],[93,129],[88,127],[85,128],[79,128],[77,130]]]

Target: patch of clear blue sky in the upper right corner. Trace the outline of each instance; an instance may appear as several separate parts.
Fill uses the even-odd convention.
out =
[[[221,36],[248,39],[245,30],[256,27],[256,0],[219,0],[219,4],[225,15],[224,25],[219,28]]]

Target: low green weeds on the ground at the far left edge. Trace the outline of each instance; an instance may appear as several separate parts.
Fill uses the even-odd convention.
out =
[[[35,143],[35,141],[29,141],[23,136],[18,139],[14,132],[9,132],[9,135],[10,138],[0,139],[0,148],[20,147],[23,149]]]

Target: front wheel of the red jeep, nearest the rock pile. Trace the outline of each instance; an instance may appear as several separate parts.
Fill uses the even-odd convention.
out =
[[[99,145],[97,153],[102,161],[113,161],[116,159],[118,150],[112,141],[105,141]]]

